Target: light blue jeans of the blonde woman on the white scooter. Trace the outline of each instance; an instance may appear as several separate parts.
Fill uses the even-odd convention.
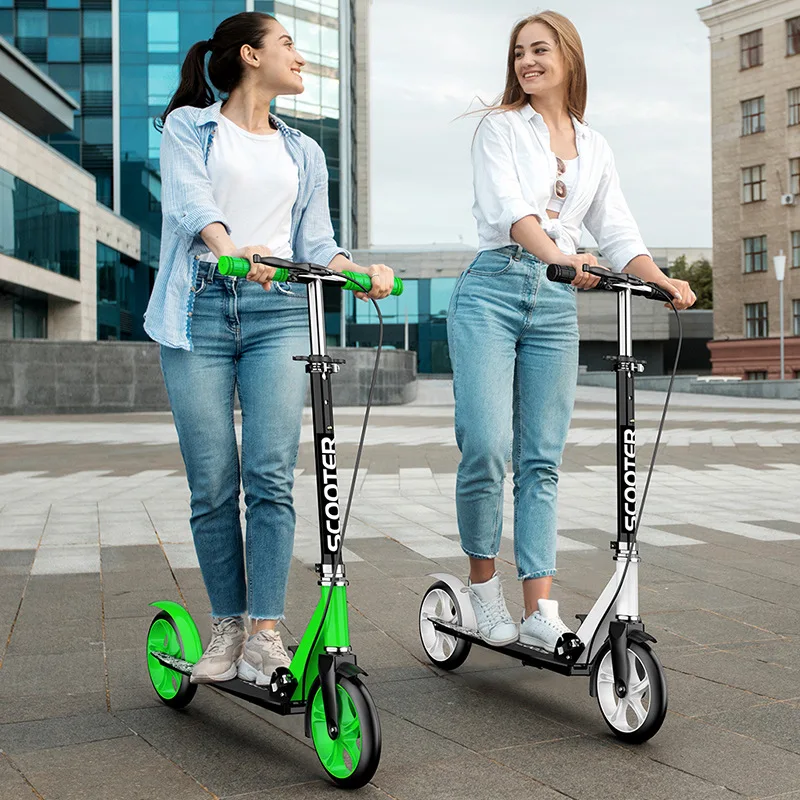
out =
[[[558,468],[578,372],[575,289],[519,246],[479,253],[450,301],[461,547],[494,558],[506,462],[514,470],[514,556],[522,580],[555,575]]]

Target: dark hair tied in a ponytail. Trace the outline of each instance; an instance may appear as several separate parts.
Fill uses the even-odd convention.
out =
[[[254,49],[264,46],[264,35],[275,18],[259,11],[244,11],[224,19],[217,26],[211,39],[197,42],[189,48],[181,67],[181,82],[169,101],[164,113],[154,121],[157,130],[176,108],[194,106],[206,108],[216,101],[213,86],[223,94],[230,94],[241,82],[244,65],[239,55],[242,47],[249,44]],[[208,61],[206,79],[206,55]]]

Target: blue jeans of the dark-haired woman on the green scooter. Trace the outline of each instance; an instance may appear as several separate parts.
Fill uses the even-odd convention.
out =
[[[289,294],[273,284],[265,292],[201,262],[194,292],[194,350],[162,346],[161,369],[186,465],[192,536],[211,613],[282,619],[306,386],[304,366],[292,356],[308,351],[305,289]],[[241,468],[234,391],[242,408]]]

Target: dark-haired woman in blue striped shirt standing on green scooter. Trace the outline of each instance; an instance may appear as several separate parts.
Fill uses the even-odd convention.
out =
[[[206,80],[207,54],[209,78],[224,102],[214,101]],[[365,270],[336,245],[322,150],[270,114],[278,95],[303,91],[304,65],[276,19],[237,14],[189,50],[161,120],[161,257],[145,330],[161,344],[191,490],[192,536],[211,601],[211,642],[194,667],[195,683],[238,672],[266,685],[289,664],[275,627],[284,616],[292,557],[305,397],[305,372],[292,356],[307,346],[308,316],[305,287],[273,284],[274,270],[252,257],[366,272],[376,299],[394,280],[388,267]],[[247,279],[221,275],[220,256],[250,259]],[[234,392],[242,409],[241,461]]]

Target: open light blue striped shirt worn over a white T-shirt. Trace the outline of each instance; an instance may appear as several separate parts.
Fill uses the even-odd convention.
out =
[[[156,342],[183,350],[192,349],[195,256],[208,252],[200,231],[212,222],[221,222],[230,233],[214,201],[207,168],[221,107],[217,102],[207,108],[175,109],[166,119],[161,138],[161,255],[144,329]],[[349,258],[333,240],[328,168],[322,149],[277,117],[271,119],[297,164],[299,186],[291,235],[295,260],[327,265],[338,253]]]

